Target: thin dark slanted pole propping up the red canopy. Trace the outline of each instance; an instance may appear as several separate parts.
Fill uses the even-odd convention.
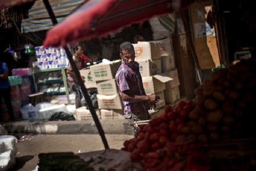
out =
[[[58,22],[57,22],[57,19],[55,17],[55,14],[52,11],[52,7],[51,7],[49,1],[48,0],[43,0],[43,3],[44,3],[44,5],[45,5],[45,7],[46,7],[46,9],[48,11],[48,14],[49,14],[51,20],[52,20],[52,24],[56,25]],[[71,55],[71,53],[70,53],[70,51],[68,49],[68,46],[64,46],[64,49],[65,49],[66,54],[68,56],[68,60],[70,62],[70,65],[72,66],[72,70],[76,74],[76,78],[78,80],[78,83],[81,86],[82,93],[84,94],[84,97],[85,97],[85,100],[86,100],[86,102],[88,104],[89,110],[90,110],[90,112],[91,112],[91,114],[93,116],[93,120],[94,120],[95,125],[96,125],[96,127],[98,129],[98,132],[99,132],[99,134],[101,136],[101,140],[102,140],[102,142],[104,144],[104,147],[105,147],[105,149],[109,149],[109,145],[108,145],[107,139],[105,137],[104,130],[102,129],[101,122],[100,122],[99,118],[97,117],[97,114],[95,112],[95,109],[94,109],[92,101],[91,101],[91,98],[89,97],[89,94],[88,94],[88,91],[87,91],[87,89],[85,87],[85,84],[83,83],[83,81],[81,79],[80,72],[77,69],[75,62],[72,59],[72,55]]]

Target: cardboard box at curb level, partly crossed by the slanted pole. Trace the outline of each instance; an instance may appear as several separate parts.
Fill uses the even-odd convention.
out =
[[[97,116],[101,119],[101,113],[99,109],[95,109]],[[76,109],[76,119],[77,121],[87,121],[93,120],[93,116],[91,115],[90,111],[86,107],[80,107]]]

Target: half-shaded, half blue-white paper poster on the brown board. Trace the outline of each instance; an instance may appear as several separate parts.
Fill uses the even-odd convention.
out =
[[[196,23],[194,26],[196,38],[215,35],[214,28],[211,28],[207,22]]]

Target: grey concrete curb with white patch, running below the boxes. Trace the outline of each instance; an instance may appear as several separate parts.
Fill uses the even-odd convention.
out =
[[[100,120],[105,134],[133,135],[130,122],[126,119]],[[8,133],[39,134],[98,134],[92,120],[89,121],[18,121],[2,125]]]

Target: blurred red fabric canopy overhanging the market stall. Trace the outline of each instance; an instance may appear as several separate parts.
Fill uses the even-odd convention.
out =
[[[66,46],[142,22],[155,15],[171,13],[194,0],[88,0],[63,22],[48,30],[44,46]]]

